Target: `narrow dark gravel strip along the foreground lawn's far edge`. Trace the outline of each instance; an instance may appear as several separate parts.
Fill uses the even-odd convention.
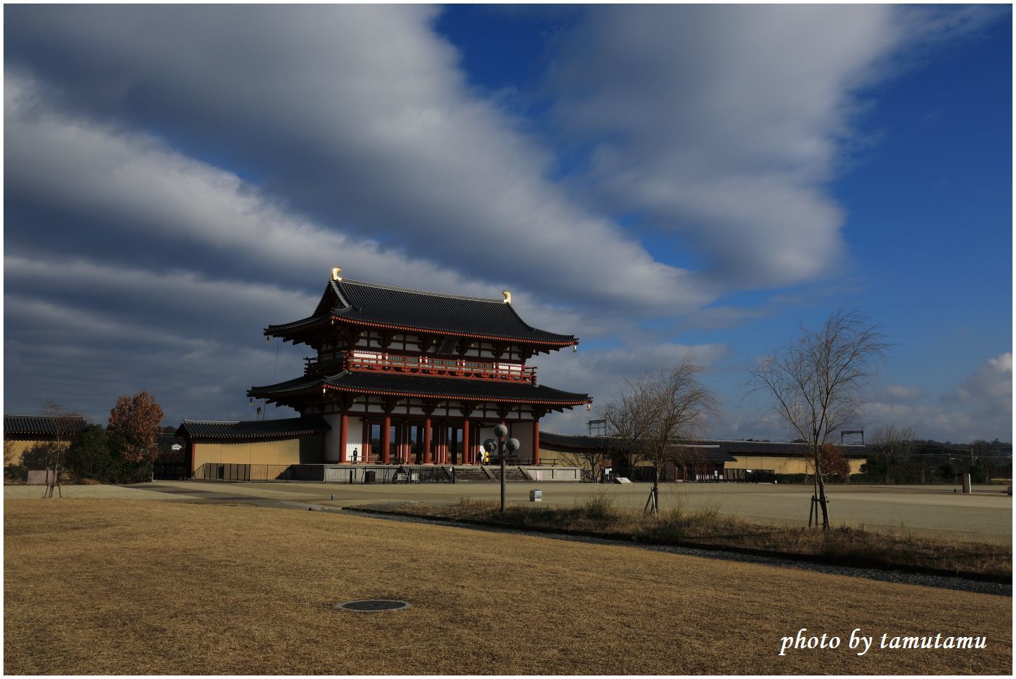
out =
[[[318,507],[328,511],[331,507]],[[657,552],[668,552],[671,554],[684,554],[686,556],[699,556],[703,558],[722,559],[726,561],[746,561],[749,563],[761,563],[787,568],[801,568],[803,570],[816,570],[833,575],[846,575],[848,578],[867,578],[868,580],[880,580],[886,583],[901,583],[903,585],[920,585],[924,587],[936,587],[946,590],[959,590],[962,592],[976,592],[979,594],[995,594],[1003,597],[1011,597],[1013,593],[1012,583],[982,583],[964,578],[950,578],[947,575],[927,575],[922,573],[908,573],[895,570],[880,570],[877,568],[859,568],[855,566],[840,566],[825,563],[810,563],[808,561],[795,561],[791,559],[781,559],[774,556],[757,556],[755,554],[739,554],[737,552],[725,552],[709,549],[692,549],[689,547],[674,547],[669,545],[646,545],[634,542],[622,542],[620,540],[605,540],[601,538],[588,538],[575,535],[556,535],[553,533],[541,533],[536,531],[525,531],[516,528],[501,528],[495,526],[478,526],[475,524],[460,524],[452,521],[442,521],[440,519],[429,519],[424,517],[406,517],[377,514],[374,512],[358,508],[342,508],[342,513],[352,514],[358,517],[371,519],[382,519],[387,521],[400,521],[415,524],[435,524],[439,526],[450,526],[452,528],[464,528],[474,531],[486,531],[488,533],[508,533],[512,535],[529,535],[538,538],[550,538],[552,540],[568,540],[571,542],[588,542],[600,545],[613,545],[620,547],[632,547],[635,549],[651,549]]]

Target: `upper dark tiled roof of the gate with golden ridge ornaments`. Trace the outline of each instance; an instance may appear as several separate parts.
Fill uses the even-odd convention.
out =
[[[314,316],[268,326],[277,335],[313,327],[336,317],[352,323],[431,331],[478,338],[504,338],[535,344],[577,344],[573,335],[559,335],[527,325],[502,299],[466,297],[415,290],[359,280],[329,281]]]

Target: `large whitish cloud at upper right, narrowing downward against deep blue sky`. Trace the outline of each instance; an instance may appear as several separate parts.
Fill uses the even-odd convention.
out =
[[[864,87],[968,23],[887,5],[591,8],[551,77],[562,129],[594,145],[576,185],[690,244],[724,290],[835,274],[829,183],[864,143]]]

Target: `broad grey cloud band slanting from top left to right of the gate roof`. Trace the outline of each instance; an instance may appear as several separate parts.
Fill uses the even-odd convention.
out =
[[[470,95],[433,8],[12,9],[8,68],[54,106],[228,159],[326,230],[561,299],[708,297],[546,181],[549,156]]]

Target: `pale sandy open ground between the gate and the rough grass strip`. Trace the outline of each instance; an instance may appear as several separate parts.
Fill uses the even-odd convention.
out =
[[[605,493],[619,505],[641,507],[647,484],[509,483],[510,502],[528,502],[529,490],[539,488],[545,502],[574,504]],[[6,486],[4,496],[35,497],[37,486]],[[113,488],[114,490],[104,490]],[[332,485],[319,483],[215,483],[161,481],[128,488],[65,486],[66,496],[117,496],[166,499],[155,489],[171,489],[172,497],[273,498],[355,506],[373,502],[457,502],[462,497],[497,499],[497,483]],[[1012,544],[1012,497],[1004,486],[974,486],[974,493],[954,493],[952,486],[835,485],[829,487],[834,524],[864,526],[877,531],[909,531],[916,535]],[[334,500],[331,499],[334,495]],[[808,524],[811,487],[735,483],[668,483],[661,486],[661,506],[682,503],[688,508],[715,507],[722,514],[791,526]]]

